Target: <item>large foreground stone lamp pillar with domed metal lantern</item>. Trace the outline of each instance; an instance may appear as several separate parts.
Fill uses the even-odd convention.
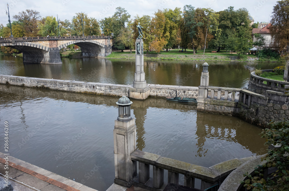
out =
[[[131,118],[130,105],[132,102],[126,96],[119,98],[118,117],[114,121],[114,183],[127,188],[132,186],[132,180],[137,175],[136,162],[130,154],[136,150],[136,126]]]

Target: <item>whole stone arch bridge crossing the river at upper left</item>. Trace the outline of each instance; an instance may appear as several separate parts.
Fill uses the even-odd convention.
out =
[[[112,36],[0,38],[0,46],[23,53],[23,63],[62,64],[60,50],[70,44],[81,48],[83,57],[106,57],[112,52]]]

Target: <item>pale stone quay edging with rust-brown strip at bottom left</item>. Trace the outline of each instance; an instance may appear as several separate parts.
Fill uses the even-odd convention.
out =
[[[3,159],[5,156],[7,156],[4,153],[0,152],[0,162],[5,164],[5,159]],[[38,166],[35,166],[33,164],[30,164],[28,162],[25,162],[23,160],[14,158],[9,155],[9,161],[8,165],[12,168],[16,168],[22,172],[25,172],[29,175],[32,175],[40,180],[43,180],[45,182],[48,182],[50,184],[53,184],[57,187],[60,187],[67,191],[97,191],[93,188],[89,188],[88,186],[85,186],[81,183],[75,182],[71,179],[65,178],[63,176],[60,176],[58,174],[52,173],[50,171],[47,171],[43,168],[40,168]],[[24,182],[25,183],[25,182]]]

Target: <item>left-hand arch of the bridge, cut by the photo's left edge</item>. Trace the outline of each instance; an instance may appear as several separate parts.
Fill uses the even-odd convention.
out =
[[[29,42],[2,42],[0,46],[15,48],[23,53],[23,63],[47,63],[49,47]]]

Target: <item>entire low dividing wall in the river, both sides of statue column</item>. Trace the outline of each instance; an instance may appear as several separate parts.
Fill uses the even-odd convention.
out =
[[[22,76],[0,75],[1,84],[18,85],[25,87],[35,87],[42,89],[62,90],[78,93],[89,93],[98,95],[122,96],[129,97],[131,85],[105,84],[93,82],[79,82],[70,80],[55,80],[45,78],[31,78]],[[153,97],[178,97],[198,98],[198,87],[179,87],[169,85],[148,84],[150,95]]]

